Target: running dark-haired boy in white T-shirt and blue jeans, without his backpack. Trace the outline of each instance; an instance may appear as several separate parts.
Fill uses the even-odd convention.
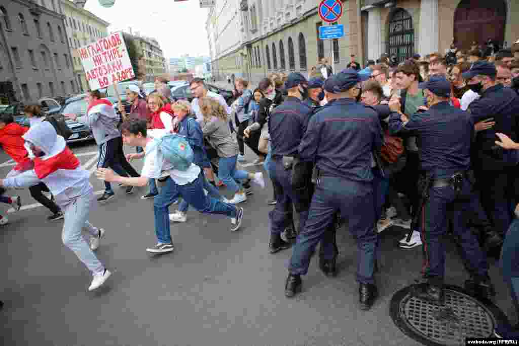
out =
[[[227,215],[231,218],[231,231],[240,228],[243,208],[206,196],[203,192],[203,176],[196,164],[192,163],[187,171],[179,171],[164,158],[154,138],[160,139],[165,136],[168,134],[167,130],[148,131],[146,121],[129,119],[122,123],[121,132],[122,140],[126,144],[144,148],[144,153],[127,155],[129,160],[144,157],[141,176],[127,178],[114,174],[110,169],[101,168],[95,172],[99,179],[109,183],[122,183],[127,186],[145,186],[149,178],[167,177],[166,185],[160,189],[160,194],[154,198],[153,203],[155,234],[158,243],[154,247],[147,248],[147,252],[167,253],[174,250],[168,208],[179,197],[182,197],[189,205],[194,206],[200,213]]]

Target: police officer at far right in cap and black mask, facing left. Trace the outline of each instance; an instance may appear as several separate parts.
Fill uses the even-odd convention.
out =
[[[482,190],[482,202],[495,230],[503,237],[512,222],[514,205],[515,167],[514,151],[503,150],[494,142],[496,133],[519,140],[519,96],[511,88],[496,83],[494,64],[480,61],[462,74],[469,87],[481,97],[468,109],[474,122],[494,118],[494,127],[480,131],[474,143],[474,168]]]

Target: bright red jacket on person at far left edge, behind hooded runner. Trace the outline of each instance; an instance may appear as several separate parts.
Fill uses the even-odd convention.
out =
[[[0,145],[2,145],[7,155],[18,163],[15,167],[17,171],[23,170],[22,167],[25,165],[32,164],[31,159],[27,155],[27,150],[23,146],[25,141],[22,135],[27,131],[29,131],[28,127],[21,127],[16,122],[11,122],[3,129],[0,129]]]

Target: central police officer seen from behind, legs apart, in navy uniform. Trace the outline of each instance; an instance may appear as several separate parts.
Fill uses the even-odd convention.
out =
[[[308,272],[317,243],[340,211],[357,239],[360,308],[368,310],[378,294],[373,278],[377,231],[371,155],[380,150],[382,130],[375,110],[356,102],[357,71],[333,75],[324,90],[329,103],[312,115],[299,146],[299,158],[315,162],[319,173],[306,226],[294,245],[285,295],[292,297],[301,289],[301,275]]]

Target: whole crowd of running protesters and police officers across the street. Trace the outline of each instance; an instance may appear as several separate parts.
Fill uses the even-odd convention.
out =
[[[265,187],[262,172],[239,167],[247,145],[272,185],[268,251],[293,247],[287,297],[301,291],[319,243],[320,269],[337,274],[335,236],[347,222],[358,247],[359,308],[370,309],[378,296],[379,233],[397,225],[408,230],[399,246],[422,246],[424,254],[425,284],[411,294],[444,302],[442,237],[452,233],[471,276],[465,288],[475,297],[495,295],[487,257],[500,256],[519,315],[519,41],[485,52],[453,46],[445,56],[415,54],[401,63],[384,54],[362,70],[352,61],[338,73],[323,59],[307,77],[274,73],[256,88],[237,78],[229,104],[200,78],[189,83],[190,103],[174,100],[166,79],[157,78],[155,87],[145,95],[128,86],[128,114],[122,106],[116,113],[94,90],[86,115],[65,115],[88,124],[99,147],[95,175],[105,191],[98,202],[113,198],[111,183],[126,193],[149,186],[142,198],[154,198],[157,243],[148,252],[174,251],[170,222],[187,222],[189,205],[227,216],[231,231],[240,228],[245,210],[238,204],[253,193],[251,183]],[[25,113],[30,128],[0,118],[0,143],[17,162],[0,186],[29,187],[51,210],[49,219],[64,218],[63,243],[92,272],[89,290],[97,289],[111,273],[94,254],[105,230],[88,221],[97,204],[90,174],[38,106]],[[170,134],[193,150],[187,167],[162,153]],[[135,153],[125,155],[123,144]],[[141,173],[130,164],[135,159],[144,160]],[[20,209],[19,197],[0,198]],[[90,238],[81,237],[83,229]],[[500,326],[496,333],[516,336],[517,329]]]

